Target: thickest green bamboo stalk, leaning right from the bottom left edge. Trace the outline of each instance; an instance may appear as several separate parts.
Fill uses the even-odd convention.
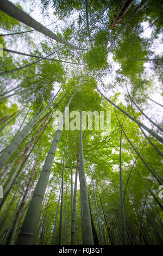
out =
[[[76,94],[76,92],[74,94]],[[74,94],[71,96],[71,99],[68,101],[67,107],[69,107]],[[35,187],[32,200],[30,201],[26,217],[24,218],[21,232],[17,239],[17,245],[32,245],[33,237],[36,231],[37,221],[39,219],[39,212],[41,209],[42,200],[45,195],[55,152],[57,150],[59,139],[61,136],[60,127],[64,124],[65,115],[66,115],[66,111],[64,111],[58,130],[55,132],[55,136],[54,136],[51,148],[49,149],[48,155],[46,157],[45,163],[42,168],[42,172],[40,174],[40,178]]]

